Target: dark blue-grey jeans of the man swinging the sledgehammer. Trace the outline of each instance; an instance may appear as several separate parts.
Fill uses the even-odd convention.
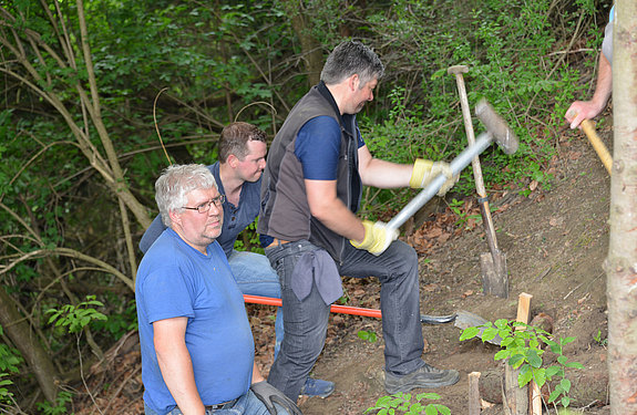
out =
[[[330,304],[322,301],[316,284],[302,301],[291,289],[291,276],[298,259],[317,249],[321,248],[307,240],[266,249],[266,256],[281,280],[286,331],[268,383],[292,401],[298,398],[326,340]],[[394,241],[376,257],[346,243],[342,261],[337,263],[337,268],[341,276],[373,276],[380,281],[386,371],[404,375],[423,366],[418,256],[413,248]]]

